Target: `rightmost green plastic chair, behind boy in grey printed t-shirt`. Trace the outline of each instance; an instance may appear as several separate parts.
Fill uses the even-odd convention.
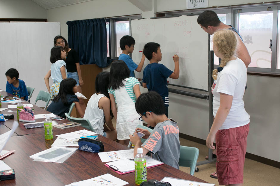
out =
[[[190,167],[190,175],[194,175],[199,150],[196,147],[180,147],[179,166]]]

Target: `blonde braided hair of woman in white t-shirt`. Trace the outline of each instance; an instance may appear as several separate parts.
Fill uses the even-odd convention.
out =
[[[223,59],[219,67],[224,67],[228,63],[229,59],[234,56],[234,51],[237,45],[237,39],[233,31],[220,30],[216,31],[213,36],[213,45],[217,47],[218,52],[223,54]],[[218,70],[214,69],[212,77],[217,80]]]

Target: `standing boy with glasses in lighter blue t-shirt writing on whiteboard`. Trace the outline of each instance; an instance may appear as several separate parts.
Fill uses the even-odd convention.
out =
[[[141,72],[144,61],[145,61],[145,55],[142,54],[141,61],[139,65],[136,65],[128,55],[129,53],[133,53],[135,45],[135,40],[131,36],[123,36],[122,39],[119,41],[119,46],[122,49],[122,53],[119,55],[119,60],[122,60],[126,63],[128,66],[128,69],[130,70],[130,77],[135,77],[134,70],[137,72]]]

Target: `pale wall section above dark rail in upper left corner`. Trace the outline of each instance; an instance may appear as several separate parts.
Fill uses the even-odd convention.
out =
[[[31,0],[0,0],[0,18],[46,19],[46,9]]]

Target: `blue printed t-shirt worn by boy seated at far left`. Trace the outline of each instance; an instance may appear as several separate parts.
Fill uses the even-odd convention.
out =
[[[19,86],[14,87],[13,83],[7,82],[6,84],[6,92],[17,96],[18,98],[24,97],[24,100],[28,100],[28,91],[25,86],[25,82],[23,80],[18,79]]]

